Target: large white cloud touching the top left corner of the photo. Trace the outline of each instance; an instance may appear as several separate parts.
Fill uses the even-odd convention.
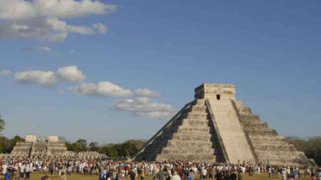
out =
[[[115,11],[114,4],[98,0],[0,0],[0,19],[22,20],[35,17],[70,18]]]

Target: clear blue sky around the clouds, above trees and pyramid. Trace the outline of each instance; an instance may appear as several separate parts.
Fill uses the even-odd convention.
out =
[[[4,135],[59,134],[108,143],[147,139],[167,122],[114,108],[115,101],[135,95],[77,95],[69,89],[101,81],[133,93],[159,92],[148,100],[172,111],[193,100],[194,88],[203,82],[234,83],[237,98],[279,134],[321,135],[321,1],[100,2],[116,8],[57,15],[67,24],[96,30],[91,34],[69,29],[60,41],[48,40],[53,34],[9,37],[0,25],[0,70],[12,72],[0,76]],[[3,14],[3,27],[27,23]],[[91,26],[98,23],[108,31]],[[68,66],[76,66],[85,79],[60,78],[43,87],[15,78],[17,72],[56,73]]]

